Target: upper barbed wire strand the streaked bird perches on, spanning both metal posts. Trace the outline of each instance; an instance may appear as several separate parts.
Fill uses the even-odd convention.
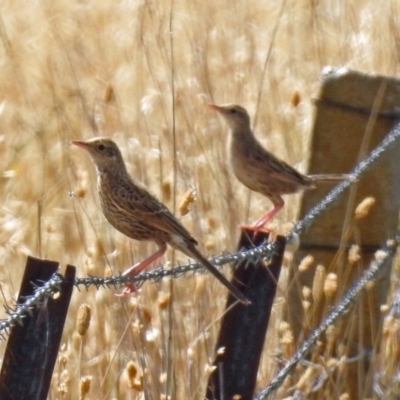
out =
[[[400,137],[400,124],[396,124],[389,134],[383,139],[378,147],[376,147],[368,157],[361,161],[351,172],[353,180],[358,180],[361,175],[372,167],[373,164],[388,150],[390,150],[397,142]],[[343,192],[352,185],[352,181],[344,181],[336,186],[328,195],[315,207],[313,207],[302,220],[297,222],[292,230],[286,234],[287,242],[296,241],[296,238],[301,234],[304,229],[312,224],[312,222],[323,213],[329,206],[335,203]],[[276,251],[276,245],[272,243],[263,243],[260,246],[254,247],[250,250],[240,250],[236,253],[229,253],[215,257],[211,262],[216,266],[223,266],[228,263],[260,259],[271,257],[273,252]],[[177,266],[171,269],[156,268],[152,271],[145,271],[137,276],[122,276],[114,275],[110,277],[99,277],[99,276],[88,276],[85,278],[75,278],[74,285],[78,287],[84,286],[86,289],[89,286],[109,287],[109,286],[120,286],[127,282],[135,282],[140,284],[146,280],[160,280],[164,277],[170,276],[176,278],[187,272],[200,272],[205,269],[198,263],[187,264],[183,266]],[[0,337],[3,337],[9,329],[16,323],[21,323],[24,316],[28,315],[33,307],[38,307],[44,299],[48,296],[52,296],[58,291],[58,284],[61,276],[55,274],[52,279],[44,283],[43,286],[38,286],[35,290],[34,295],[30,296],[25,300],[23,304],[15,306],[14,310],[11,307],[6,307],[6,313],[9,315],[8,318],[0,320]]]

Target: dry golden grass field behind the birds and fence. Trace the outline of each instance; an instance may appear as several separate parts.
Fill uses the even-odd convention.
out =
[[[208,256],[234,251],[237,225],[270,203],[230,174],[226,126],[206,104],[248,108],[258,138],[306,171],[322,68],[398,75],[400,3],[4,0],[0,39],[0,278],[12,305],[27,255],[76,265],[83,277],[117,274],[155,249],[107,223],[93,165],[71,140],[113,138],[130,173],[178,216],[195,191],[182,222]],[[296,220],[298,201],[286,198],[274,219],[279,232]],[[187,261],[169,250],[162,263]],[[287,275],[259,387],[277,371]],[[208,274],[189,274],[147,282],[130,298],[114,293],[74,292],[49,398],[202,399],[225,288]],[[82,304],[92,312],[83,336]],[[329,361],[321,364],[328,369]],[[327,381],[335,387],[334,377]],[[295,384],[275,398],[293,394]],[[349,397],[337,390],[331,398]]]

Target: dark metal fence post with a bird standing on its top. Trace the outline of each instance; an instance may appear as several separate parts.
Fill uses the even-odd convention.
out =
[[[259,233],[250,240],[251,231],[242,231],[238,250],[251,249],[268,239],[268,234]],[[233,282],[243,289],[244,295],[251,301],[245,306],[236,304],[237,300],[229,295],[227,312],[221,324],[214,365],[206,398],[208,400],[251,399],[256,385],[258,366],[263,349],[276,286],[281,270],[285,238],[279,236],[277,251],[271,262],[265,265],[263,260],[240,261],[235,269]]]

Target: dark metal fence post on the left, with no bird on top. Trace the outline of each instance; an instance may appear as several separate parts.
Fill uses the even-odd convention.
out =
[[[47,281],[58,263],[28,257],[18,304],[34,292],[35,285]],[[47,298],[32,310],[21,325],[10,331],[0,372],[0,399],[45,400],[57,359],[61,335],[75,278],[75,267],[68,266],[57,298]]]

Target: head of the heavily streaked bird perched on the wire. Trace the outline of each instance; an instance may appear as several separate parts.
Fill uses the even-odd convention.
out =
[[[73,140],[75,146],[85,149],[99,172],[125,171],[125,163],[118,146],[109,138],[96,137],[89,140]]]

